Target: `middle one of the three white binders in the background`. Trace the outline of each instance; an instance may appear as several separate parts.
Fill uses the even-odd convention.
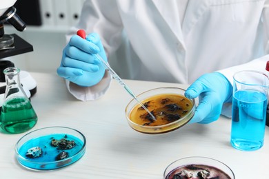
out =
[[[66,0],[54,0],[54,8],[56,14],[56,25],[57,26],[70,26],[70,19],[68,18],[69,3]]]

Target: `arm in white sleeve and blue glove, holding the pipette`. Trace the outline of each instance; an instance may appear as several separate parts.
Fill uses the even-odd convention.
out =
[[[90,38],[96,39],[96,36],[90,35],[87,40],[91,44],[86,40],[82,41],[74,35],[79,29],[86,30],[90,35],[92,32],[99,34],[101,41],[94,43]],[[63,50],[61,65],[57,70],[59,76],[66,78],[68,90],[74,97],[81,101],[92,101],[106,93],[111,76],[90,54],[99,53],[103,59],[108,59],[107,56],[119,48],[121,31],[121,19],[117,14],[115,1],[84,3],[79,23],[68,32],[68,45]],[[97,45],[98,50],[94,50],[94,45]]]

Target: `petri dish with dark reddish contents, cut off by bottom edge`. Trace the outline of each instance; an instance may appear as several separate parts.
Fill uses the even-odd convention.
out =
[[[166,167],[163,179],[172,178],[235,179],[235,174],[230,167],[219,160],[191,156],[176,160]]]

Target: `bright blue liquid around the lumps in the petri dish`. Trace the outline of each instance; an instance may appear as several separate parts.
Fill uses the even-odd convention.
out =
[[[74,143],[76,145],[72,149],[57,149],[57,147],[53,147],[50,145],[52,138],[55,138],[57,140],[60,140],[61,138],[67,137],[67,140],[74,140]],[[41,147],[43,154],[40,157],[37,158],[28,158],[26,156],[26,153],[28,149],[32,147]],[[39,138],[33,138],[31,140],[28,140],[26,143],[24,143],[20,148],[19,148],[19,154],[23,158],[18,158],[19,162],[21,165],[28,167],[30,169],[41,169],[41,170],[50,170],[50,169],[57,169],[60,167],[65,167],[66,165],[70,165],[73,162],[76,162],[83,156],[85,153],[85,148],[83,151],[81,151],[83,147],[83,142],[72,135],[68,134],[51,134],[48,136],[41,136]],[[68,152],[68,158],[63,159],[63,160],[57,160],[56,157],[61,151],[66,151]],[[79,152],[81,151],[81,152]]]

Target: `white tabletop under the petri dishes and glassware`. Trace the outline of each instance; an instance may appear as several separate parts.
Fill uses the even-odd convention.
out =
[[[208,125],[191,124],[166,134],[141,134],[128,126],[124,109],[131,97],[116,82],[97,101],[71,96],[57,74],[31,73],[37,81],[32,105],[38,115],[31,129],[66,126],[86,136],[86,153],[74,164],[54,171],[30,171],[15,158],[14,145],[23,134],[0,133],[0,178],[163,178],[166,167],[179,158],[206,156],[226,163],[236,178],[268,178],[269,127],[257,151],[230,145],[229,118]],[[127,81],[139,94],[155,87],[186,85]]]

